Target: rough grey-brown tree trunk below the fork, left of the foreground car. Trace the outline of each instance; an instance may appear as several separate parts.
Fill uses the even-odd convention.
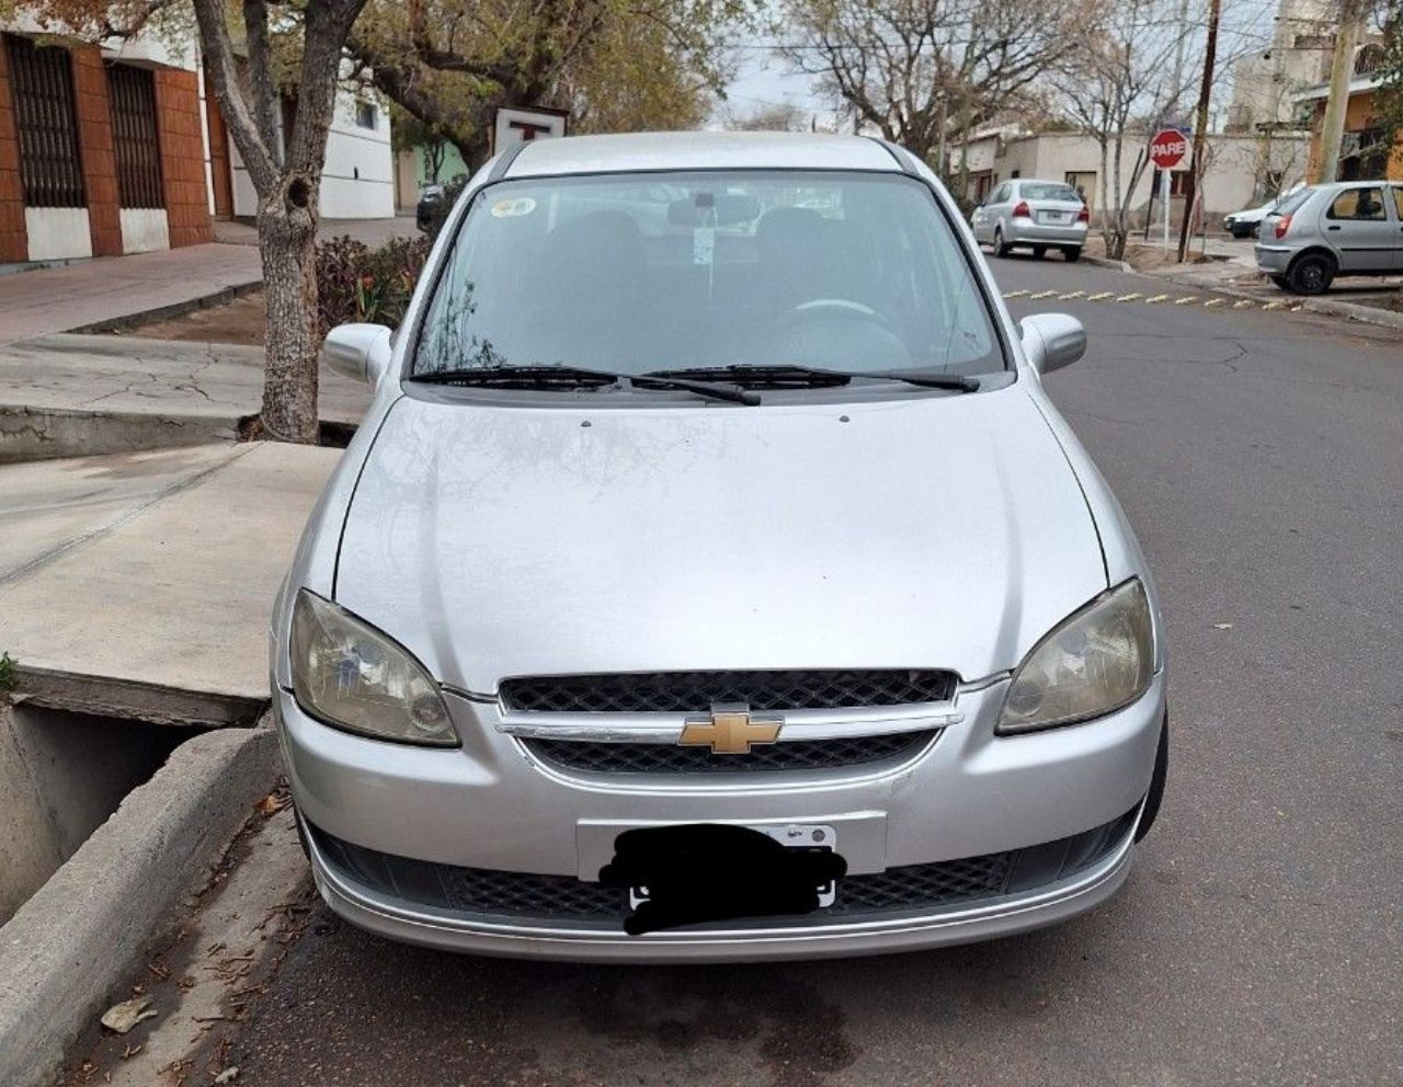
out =
[[[286,196],[283,194],[288,194]],[[268,355],[260,421],[279,442],[316,445],[317,418],[317,219],[306,187],[292,178],[258,205],[268,304]]]

